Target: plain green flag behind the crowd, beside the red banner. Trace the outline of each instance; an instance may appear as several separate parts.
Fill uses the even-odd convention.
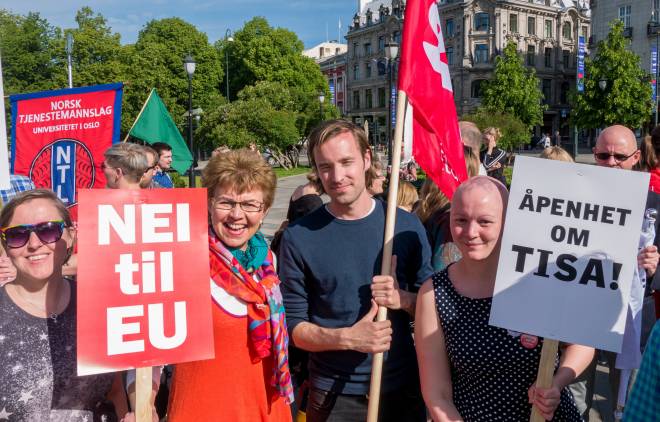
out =
[[[190,168],[192,154],[155,88],[151,90],[147,102],[128,133],[149,144],[166,143],[172,147],[172,168],[179,173],[185,173]]]

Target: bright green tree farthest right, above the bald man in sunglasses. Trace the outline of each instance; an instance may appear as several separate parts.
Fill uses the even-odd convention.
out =
[[[627,49],[623,23],[610,24],[596,56],[585,60],[584,92],[572,93],[571,119],[580,128],[596,129],[613,124],[640,127],[653,112],[650,74],[639,57]],[[600,89],[599,82],[607,86]]]

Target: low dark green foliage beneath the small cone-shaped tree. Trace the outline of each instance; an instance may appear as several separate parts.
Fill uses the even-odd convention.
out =
[[[501,149],[513,150],[529,143],[529,129],[513,114],[479,107],[474,113],[463,116],[461,120],[474,122],[482,131],[489,127],[499,128],[502,137],[497,141]]]

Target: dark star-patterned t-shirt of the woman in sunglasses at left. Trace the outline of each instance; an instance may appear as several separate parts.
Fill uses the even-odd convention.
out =
[[[75,283],[56,318],[26,313],[0,287],[0,421],[101,420],[113,377],[76,375]]]

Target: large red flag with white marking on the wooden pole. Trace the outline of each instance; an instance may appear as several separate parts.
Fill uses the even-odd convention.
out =
[[[399,90],[413,110],[415,160],[451,199],[467,171],[435,0],[406,5]]]

